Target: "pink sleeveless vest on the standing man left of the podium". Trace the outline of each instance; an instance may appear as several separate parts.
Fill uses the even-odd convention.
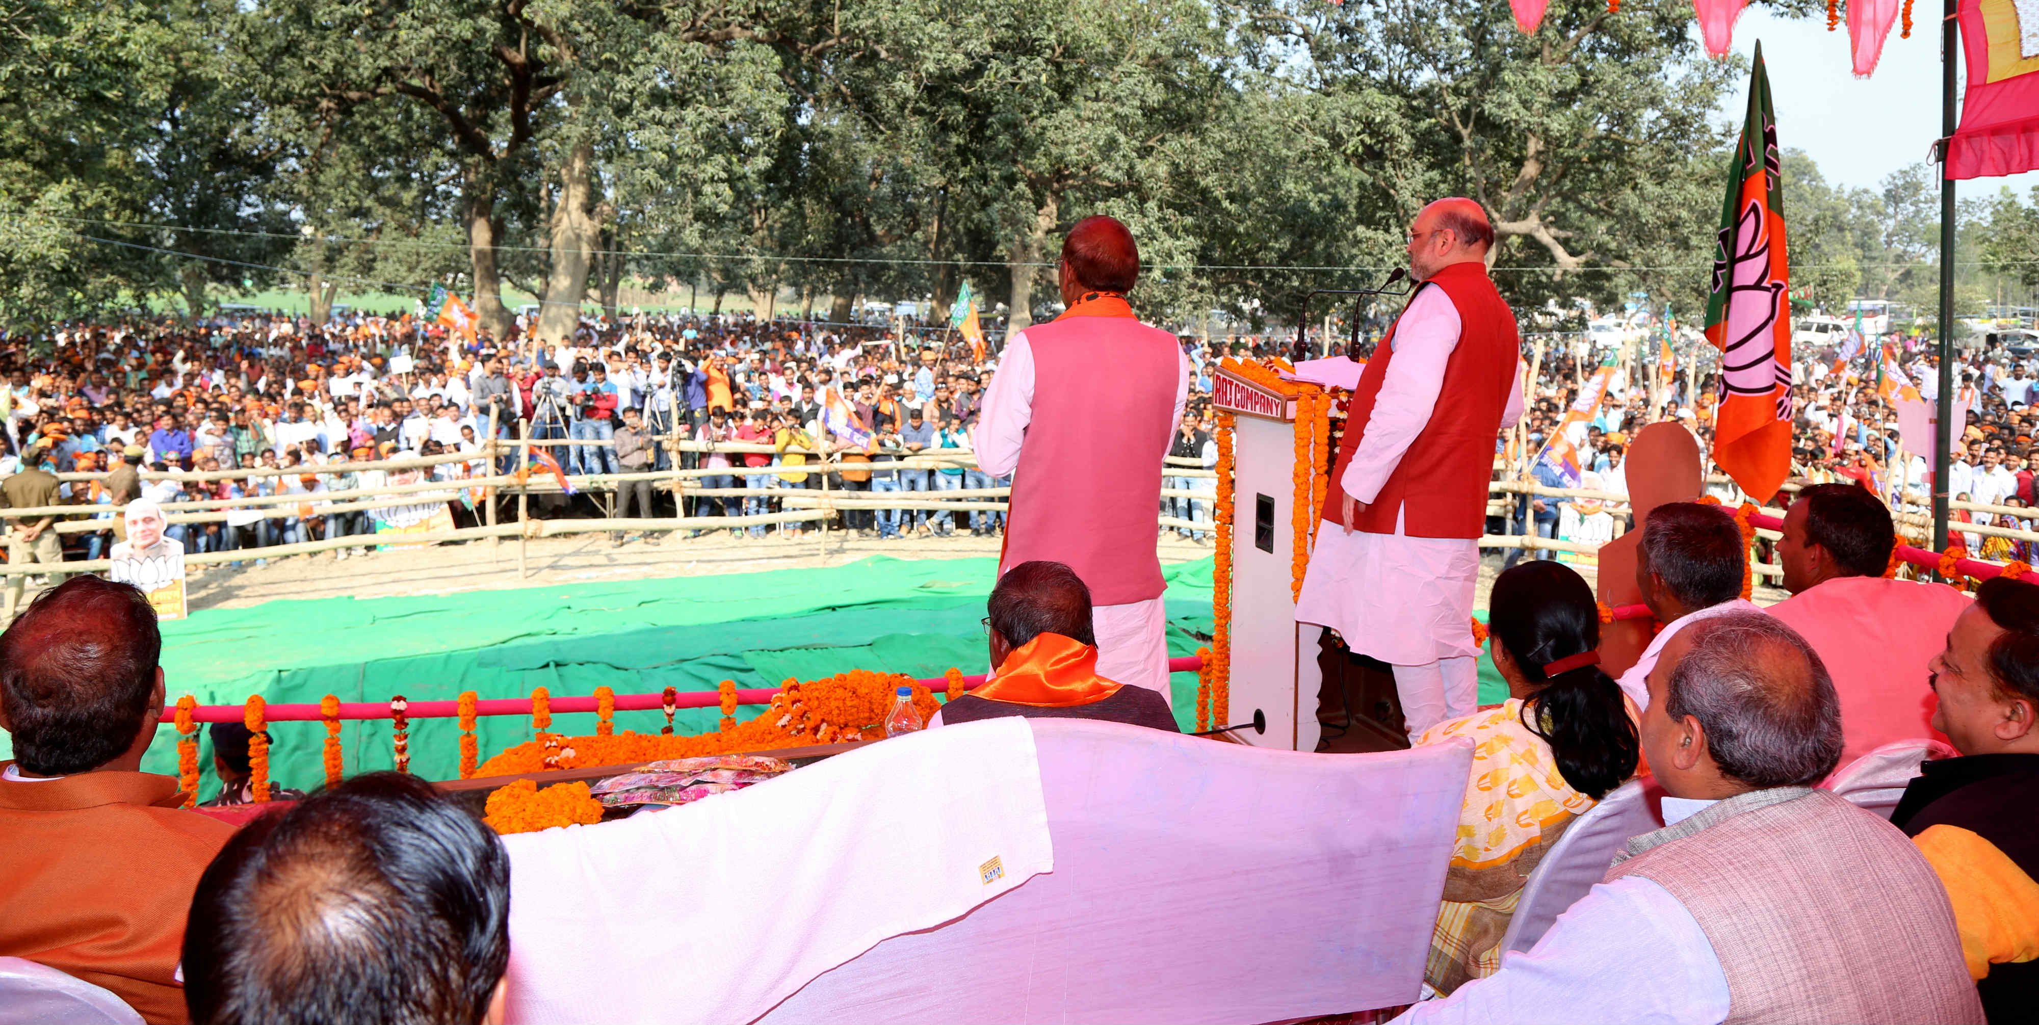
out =
[[[999,573],[1048,558],[1091,589],[1091,605],[1160,597],[1160,461],[1174,432],[1183,346],[1115,316],[1026,328],[1034,416],[1013,471]]]

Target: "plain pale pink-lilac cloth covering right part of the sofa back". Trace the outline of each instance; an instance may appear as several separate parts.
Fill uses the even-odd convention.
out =
[[[1421,990],[1472,746],[1299,754],[1028,719],[1054,870],[759,1021],[1289,1021]]]

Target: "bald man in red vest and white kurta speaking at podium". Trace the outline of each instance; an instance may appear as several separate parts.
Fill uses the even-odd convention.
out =
[[[1409,228],[1421,281],[1352,391],[1295,617],[1395,666],[1409,736],[1478,707],[1472,587],[1495,436],[1521,418],[1515,312],[1486,277],[1495,228],[1437,200]]]

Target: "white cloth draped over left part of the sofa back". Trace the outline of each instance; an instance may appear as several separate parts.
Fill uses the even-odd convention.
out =
[[[532,1025],[750,1021],[881,939],[1054,868],[1022,717],[907,734],[771,787],[504,846],[508,1017]]]

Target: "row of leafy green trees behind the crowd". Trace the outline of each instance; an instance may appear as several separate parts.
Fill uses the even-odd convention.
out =
[[[1293,320],[1442,196],[1488,208],[1517,308],[1696,312],[1741,75],[1682,0],[1535,35],[1501,0],[37,0],[0,12],[0,320],[447,283],[561,336],[624,281],[838,320],[971,281],[1024,324],[1095,212],[1146,316]],[[2031,285],[2039,212],[1968,216]],[[1794,155],[1786,218],[1800,295],[1935,279],[1927,167]]]

